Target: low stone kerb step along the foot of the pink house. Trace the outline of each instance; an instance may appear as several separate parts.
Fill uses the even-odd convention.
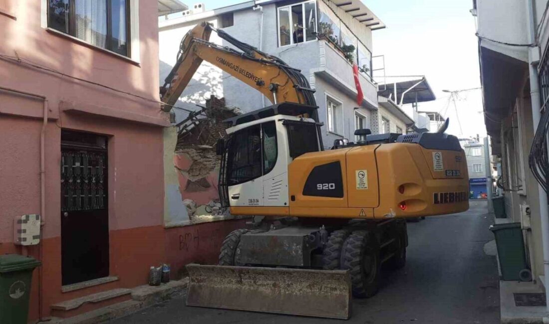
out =
[[[85,312],[68,319],[52,318],[48,322],[50,324],[94,324],[103,321],[115,319],[136,312],[140,309],[147,308],[154,304],[163,302],[163,300],[171,299],[173,296],[181,293],[188,285],[188,278],[182,280],[172,280],[169,283],[161,286],[143,285],[133,289],[126,289],[131,294],[133,300],[105,306],[103,308]],[[116,289],[115,289],[116,290]],[[89,297],[89,296],[87,296]],[[56,304],[58,305],[58,304]]]

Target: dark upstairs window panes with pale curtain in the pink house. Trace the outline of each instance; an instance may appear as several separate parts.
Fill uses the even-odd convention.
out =
[[[128,0],[49,0],[48,27],[129,56]]]

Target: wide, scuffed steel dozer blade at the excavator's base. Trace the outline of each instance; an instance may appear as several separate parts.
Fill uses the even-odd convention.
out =
[[[344,270],[187,265],[188,306],[349,319],[351,279]]]

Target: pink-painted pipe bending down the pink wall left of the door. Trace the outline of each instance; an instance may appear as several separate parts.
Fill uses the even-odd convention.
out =
[[[38,269],[38,316],[39,320],[43,320],[43,311],[42,311],[42,303],[43,303],[43,294],[42,294],[42,281],[43,281],[43,246],[44,243],[42,242],[42,227],[44,224],[46,224],[46,126],[48,124],[48,99],[46,96],[30,93],[30,92],[24,92],[20,90],[14,90],[10,88],[0,87],[0,90],[3,90],[5,92],[11,92],[19,95],[25,95],[30,96],[33,98],[42,99],[42,129],[40,132],[40,246],[38,247],[38,259],[40,262],[42,262],[42,265]],[[27,255],[28,250],[25,246],[23,248],[23,254]]]

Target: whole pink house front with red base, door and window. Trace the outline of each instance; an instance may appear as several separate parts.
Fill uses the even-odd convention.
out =
[[[52,306],[143,285],[166,262],[156,10],[0,1],[0,254],[42,262],[30,322],[88,311]],[[13,243],[24,214],[42,216],[38,245]]]

